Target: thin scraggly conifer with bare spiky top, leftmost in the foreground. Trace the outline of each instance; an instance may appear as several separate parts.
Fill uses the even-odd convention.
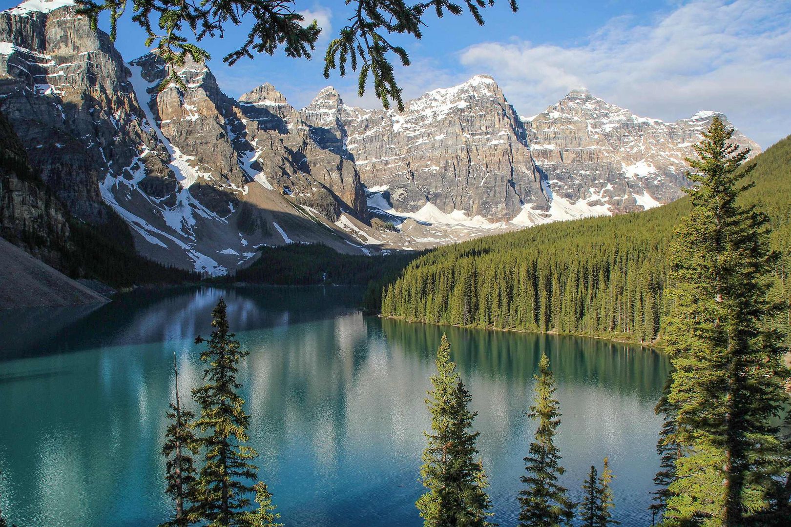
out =
[[[162,446],[162,455],[167,457],[165,465],[167,470],[167,493],[176,506],[175,513],[170,521],[161,524],[161,527],[187,527],[195,523],[192,505],[195,501],[195,462],[191,454],[198,454],[198,443],[192,432],[192,420],[195,414],[181,408],[179,397],[179,367],[176,363],[176,353],[173,353],[173,371],[176,378],[176,403],[170,403],[171,412],[167,413],[171,423],[165,436],[165,445]]]

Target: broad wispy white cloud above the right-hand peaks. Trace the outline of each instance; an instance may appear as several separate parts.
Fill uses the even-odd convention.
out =
[[[481,43],[462,51],[460,62],[471,73],[493,73],[524,115],[585,86],[660,119],[722,111],[766,147],[791,133],[789,50],[789,2],[700,0],[652,24],[615,18],[582,45]]]

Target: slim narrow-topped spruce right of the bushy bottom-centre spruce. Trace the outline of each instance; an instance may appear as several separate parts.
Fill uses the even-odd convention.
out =
[[[556,527],[571,525],[574,516],[573,503],[568,490],[558,484],[558,476],[566,469],[560,465],[560,450],[554,446],[554,435],[560,426],[560,405],[554,398],[554,375],[549,368],[549,358],[541,355],[539,375],[536,378],[535,405],[527,416],[539,420],[536,439],[530,444],[529,454],[524,457],[528,472],[520,480],[526,485],[519,492],[521,512],[520,527]]]

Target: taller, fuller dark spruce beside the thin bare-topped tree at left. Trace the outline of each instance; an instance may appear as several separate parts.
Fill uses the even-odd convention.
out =
[[[248,527],[255,525],[254,514],[245,510],[250,505],[248,494],[258,468],[250,461],[258,456],[247,442],[250,416],[244,412],[244,400],[237,390],[237,365],[248,352],[240,348],[231,333],[225,300],[220,299],[212,311],[214,331],[201,352],[206,363],[203,378],[206,385],[192,391],[200,405],[201,415],[195,421],[202,433],[198,439],[204,457],[196,484],[195,517],[210,527]],[[195,344],[204,342],[195,338]]]

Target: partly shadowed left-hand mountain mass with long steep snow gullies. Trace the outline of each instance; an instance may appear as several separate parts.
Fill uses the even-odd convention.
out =
[[[70,0],[0,13],[0,111],[74,216],[97,224],[114,210],[139,253],[213,274],[264,243],[362,252],[331,223],[365,220],[350,160],[316,145],[305,123],[272,126],[264,90],[237,103],[187,64],[185,89],[157,92],[168,73],[156,55],[125,63]]]

